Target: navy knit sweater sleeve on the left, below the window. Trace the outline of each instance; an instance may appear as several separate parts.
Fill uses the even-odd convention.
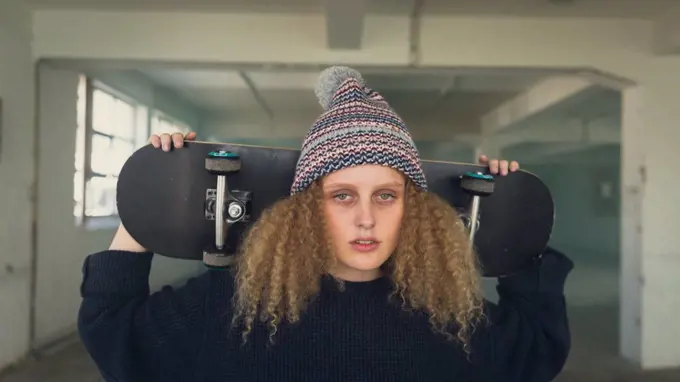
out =
[[[150,294],[152,257],[109,250],[85,260],[78,331],[107,380],[191,380],[209,279]]]

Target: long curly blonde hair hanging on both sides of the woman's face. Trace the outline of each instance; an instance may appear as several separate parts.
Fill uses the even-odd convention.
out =
[[[476,256],[456,211],[408,182],[395,252],[384,265],[404,309],[428,314],[432,328],[468,349],[483,297]],[[270,339],[282,322],[300,319],[334,265],[323,218],[321,185],[275,203],[246,234],[236,263],[234,324],[243,340],[258,318]],[[454,333],[452,329],[455,327]]]

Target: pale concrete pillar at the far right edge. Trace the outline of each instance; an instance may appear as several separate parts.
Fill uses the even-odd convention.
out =
[[[621,353],[644,368],[680,364],[678,100],[678,79],[652,75],[623,92]]]

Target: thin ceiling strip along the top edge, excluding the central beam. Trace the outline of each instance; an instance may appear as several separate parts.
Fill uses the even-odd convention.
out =
[[[362,0],[369,13],[408,14],[417,0]],[[43,9],[324,12],[335,0],[27,0]],[[345,4],[357,0],[342,0]],[[645,17],[663,15],[675,0],[424,0],[424,14]]]

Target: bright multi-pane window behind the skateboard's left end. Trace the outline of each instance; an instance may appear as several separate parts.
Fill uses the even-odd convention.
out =
[[[145,105],[85,76],[78,86],[77,115],[76,223],[110,227],[118,224],[116,185],[128,157],[146,144],[150,134],[184,133],[189,128],[157,111],[149,121]]]

